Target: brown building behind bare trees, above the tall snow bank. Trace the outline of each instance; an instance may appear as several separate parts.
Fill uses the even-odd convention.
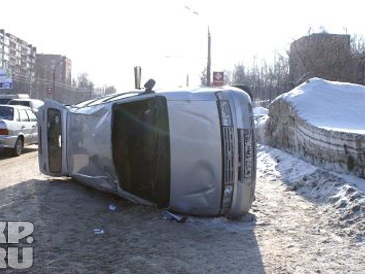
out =
[[[315,33],[291,44],[291,82],[296,86],[312,77],[364,84],[364,58],[351,53],[350,35]]]

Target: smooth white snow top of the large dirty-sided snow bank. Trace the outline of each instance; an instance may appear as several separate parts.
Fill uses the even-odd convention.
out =
[[[365,134],[365,87],[312,78],[278,96],[308,123],[327,130]]]

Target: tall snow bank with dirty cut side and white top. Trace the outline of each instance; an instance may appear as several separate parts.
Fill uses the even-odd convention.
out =
[[[365,176],[365,87],[313,78],[269,106],[267,144]]]

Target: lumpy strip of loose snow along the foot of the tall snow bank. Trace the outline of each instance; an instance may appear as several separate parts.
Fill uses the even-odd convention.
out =
[[[265,145],[258,146],[258,170],[273,175],[310,202],[335,213],[330,225],[341,228],[340,236],[356,241],[365,237],[365,180],[312,165],[289,153]],[[265,166],[265,168],[263,167]]]

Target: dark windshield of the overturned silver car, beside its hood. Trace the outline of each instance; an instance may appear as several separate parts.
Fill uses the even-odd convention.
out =
[[[170,193],[167,104],[156,96],[113,106],[112,149],[123,190],[166,206]]]

